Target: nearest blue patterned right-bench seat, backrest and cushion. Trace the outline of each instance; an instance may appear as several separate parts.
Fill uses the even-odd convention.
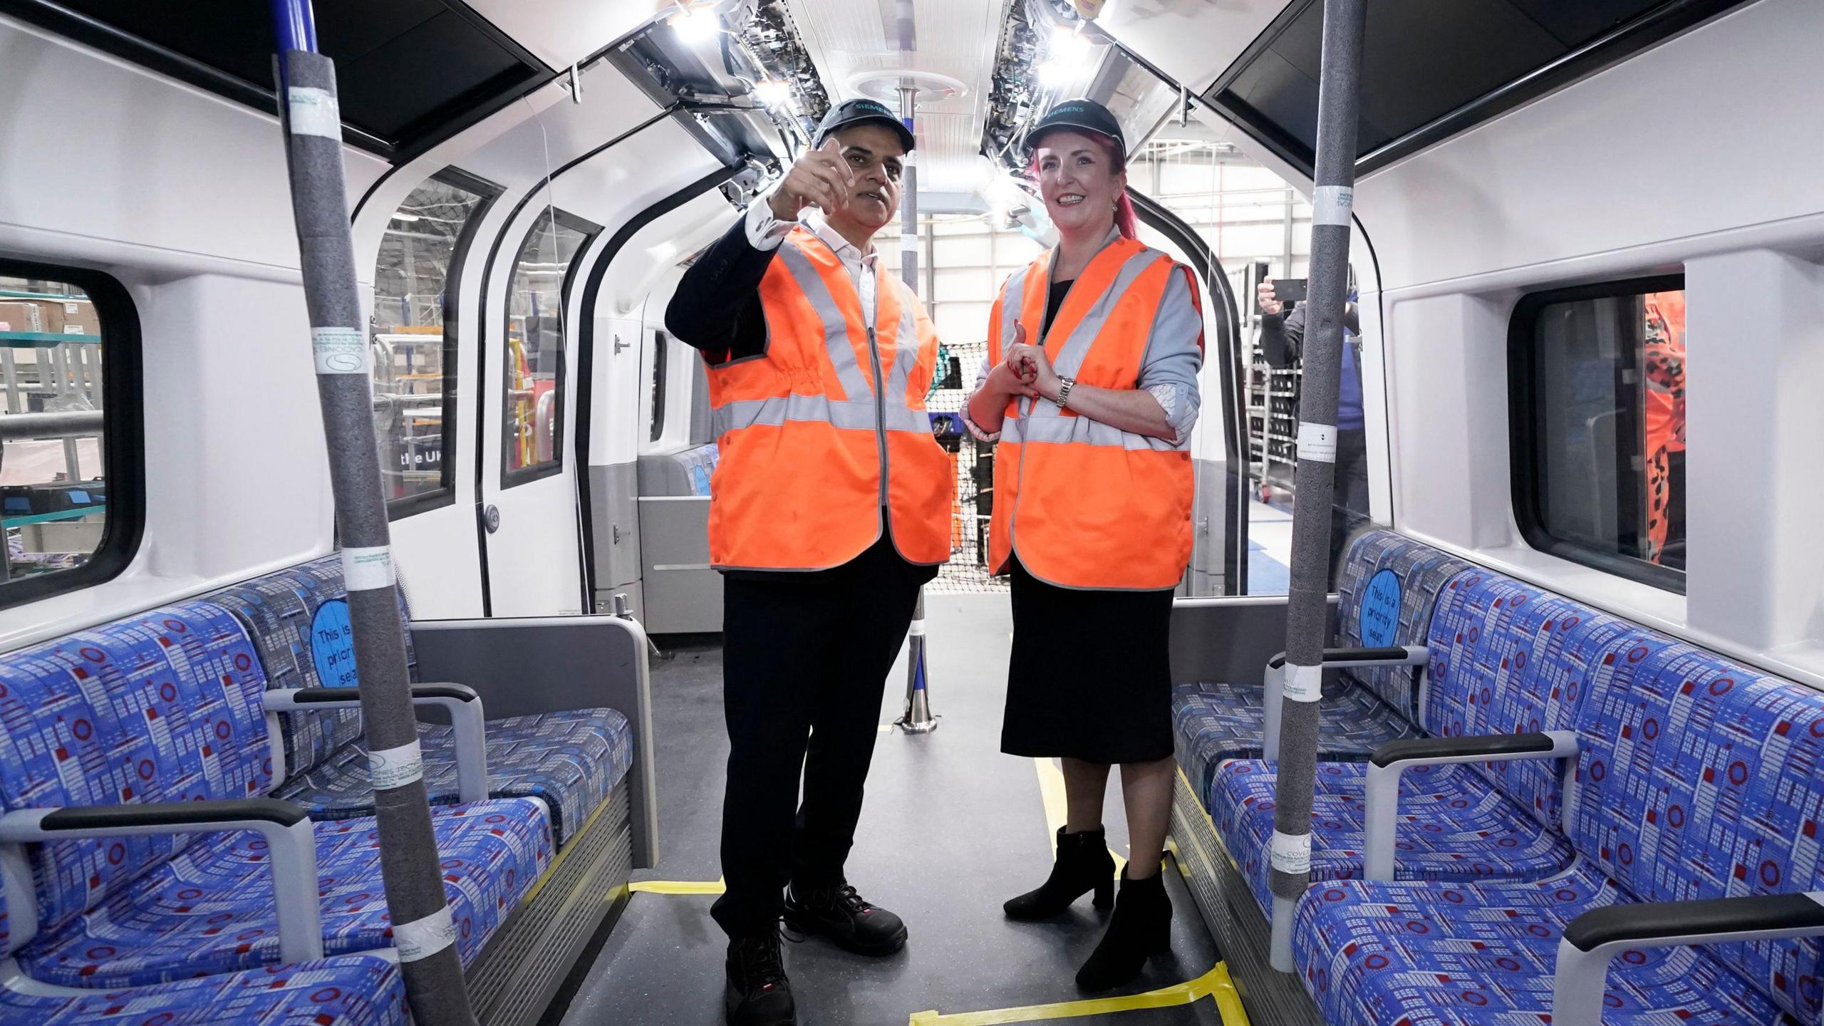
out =
[[[1547,1022],[1563,927],[1627,902],[1824,884],[1824,694],[1640,632],[1578,714],[1576,862],[1503,884],[1333,882],[1293,947],[1330,1026]],[[1607,1026],[1811,1024],[1819,938],[1623,951]]]

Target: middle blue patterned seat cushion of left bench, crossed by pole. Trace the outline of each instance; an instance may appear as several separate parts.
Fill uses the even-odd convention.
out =
[[[523,798],[432,809],[443,889],[467,964],[551,862],[544,809]],[[372,818],[317,823],[328,955],[390,947]],[[266,842],[206,834],[69,926],[20,949],[26,973],[62,986],[124,988],[233,973],[279,958]]]

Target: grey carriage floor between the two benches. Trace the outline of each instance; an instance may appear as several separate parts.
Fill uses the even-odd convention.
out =
[[[1009,608],[1005,595],[928,599],[930,694],[941,716],[927,736],[883,732],[848,876],[868,900],[905,916],[905,951],[870,960],[817,938],[786,946],[804,1026],[905,1026],[923,1010],[976,1011],[1076,1000],[1073,973],[1102,935],[1089,900],[1052,924],[1012,924],[1000,904],[1051,867],[1032,759],[1000,754]],[[658,738],[660,860],[642,880],[717,880],[722,765],[720,650],[711,639],[671,644],[653,670]],[[905,666],[888,681],[881,723],[899,714]],[[1125,851],[1118,787],[1109,789],[1109,843]],[[1215,946],[1167,871],[1176,907],[1173,955],[1129,989],[1206,973]],[[565,1026],[715,1026],[722,1022],[724,938],[711,896],[637,893],[589,969]],[[1083,1024],[1218,1024],[1195,1006],[1074,1019]]]

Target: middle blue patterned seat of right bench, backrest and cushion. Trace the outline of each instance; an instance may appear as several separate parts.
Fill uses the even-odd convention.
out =
[[[1425,725],[1432,734],[1570,730],[1592,685],[1638,628],[1519,581],[1466,570],[1437,599]],[[1311,805],[1311,882],[1363,874],[1366,767],[1319,763]],[[1235,761],[1211,780],[1207,809],[1231,854],[1268,900],[1271,763]],[[1401,774],[1395,873],[1404,880],[1529,880],[1570,862],[1560,832],[1561,763],[1415,767]]]

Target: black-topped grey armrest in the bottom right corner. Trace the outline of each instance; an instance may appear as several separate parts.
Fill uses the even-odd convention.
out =
[[[1601,1026],[1609,962],[1627,949],[1824,937],[1824,893],[1591,909],[1558,942],[1554,1026]]]

